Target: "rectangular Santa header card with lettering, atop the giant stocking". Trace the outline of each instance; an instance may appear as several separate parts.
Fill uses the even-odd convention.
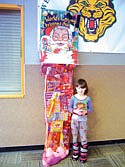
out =
[[[70,29],[67,12],[42,9],[40,26],[42,63],[78,64],[77,38],[78,32]]]

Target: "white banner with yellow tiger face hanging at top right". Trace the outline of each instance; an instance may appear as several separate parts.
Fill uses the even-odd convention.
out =
[[[39,5],[80,15],[79,52],[125,53],[125,1],[39,0]]]

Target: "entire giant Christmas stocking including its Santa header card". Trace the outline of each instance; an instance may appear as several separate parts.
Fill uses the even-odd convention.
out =
[[[73,95],[73,68],[78,64],[77,16],[70,27],[68,12],[41,8],[40,62],[45,77],[45,147],[43,166],[51,166],[69,154]],[[75,21],[76,20],[76,21]]]

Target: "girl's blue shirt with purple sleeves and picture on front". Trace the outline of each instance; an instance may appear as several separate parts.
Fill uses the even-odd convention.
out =
[[[85,111],[87,110],[87,114],[92,112],[92,102],[89,96],[85,99],[80,100],[74,96],[71,97],[69,105],[68,105],[69,112],[72,113],[72,119],[77,119],[78,121],[87,121],[87,115],[81,116],[79,113],[73,112],[75,109],[78,111]]]

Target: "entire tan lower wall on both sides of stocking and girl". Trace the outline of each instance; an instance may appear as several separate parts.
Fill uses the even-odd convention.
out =
[[[89,141],[125,138],[125,66],[74,68],[74,83],[85,78],[93,102]],[[0,99],[0,147],[44,144],[44,78],[40,65],[26,65],[23,99]]]

